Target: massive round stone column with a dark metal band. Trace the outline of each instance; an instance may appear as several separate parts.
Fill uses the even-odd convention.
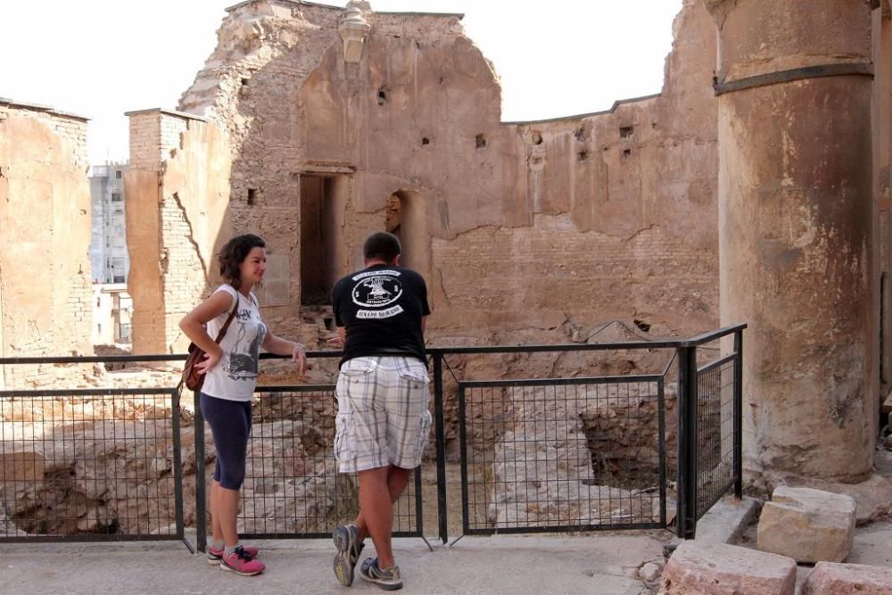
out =
[[[860,481],[879,376],[871,8],[703,2],[719,30],[721,317],[749,323],[745,472]]]

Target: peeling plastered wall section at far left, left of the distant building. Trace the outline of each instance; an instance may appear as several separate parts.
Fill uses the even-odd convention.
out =
[[[87,119],[0,99],[0,355],[90,353]],[[4,367],[0,386],[45,384]]]

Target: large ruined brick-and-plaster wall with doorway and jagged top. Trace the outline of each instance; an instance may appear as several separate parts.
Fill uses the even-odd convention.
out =
[[[307,177],[330,186],[329,277],[359,266],[398,199],[434,343],[531,331],[557,342],[568,318],[661,334],[717,323],[715,33],[699,3],[676,19],[661,95],[525,123],[500,122],[498,77],[460,15],[365,10],[353,63],[341,9],[259,0],[228,12],[179,109],[225,130],[227,217],[266,237],[285,271],[265,313],[277,331],[312,342],[325,330],[324,309],[301,309]]]

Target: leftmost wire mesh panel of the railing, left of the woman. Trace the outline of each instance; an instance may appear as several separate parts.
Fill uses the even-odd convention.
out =
[[[183,538],[178,393],[0,391],[0,541]]]

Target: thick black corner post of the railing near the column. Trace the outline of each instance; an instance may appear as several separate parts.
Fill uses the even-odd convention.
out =
[[[678,536],[697,529],[697,348],[678,350]]]

